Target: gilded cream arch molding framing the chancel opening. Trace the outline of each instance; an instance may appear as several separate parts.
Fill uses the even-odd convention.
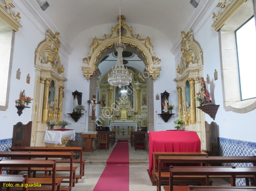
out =
[[[153,51],[154,46],[150,42],[150,37],[147,36],[146,38],[141,38],[139,34],[132,34],[132,27],[129,27],[124,21],[125,17],[121,15],[121,28],[124,32],[121,36],[121,42],[126,46],[131,46],[141,52],[148,74],[156,80],[160,74],[161,59],[156,57],[156,54]],[[96,64],[98,63],[98,58],[101,56],[102,52],[106,51],[108,48],[112,48],[115,43],[119,42],[119,23],[116,24],[114,28],[112,27],[111,31],[112,33],[110,35],[104,34],[101,39],[97,37],[93,38],[93,42],[90,45],[91,50],[87,54],[87,57],[83,58],[83,62],[85,63],[85,65],[82,66],[83,75],[87,80],[95,74],[97,69]]]

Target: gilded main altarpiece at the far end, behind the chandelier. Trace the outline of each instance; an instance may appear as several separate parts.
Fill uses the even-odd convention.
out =
[[[101,98],[99,120],[102,126],[109,127],[111,122],[137,123],[138,127],[147,126],[147,84],[139,77],[142,75],[141,72],[132,68],[128,68],[128,70],[129,73],[132,73],[132,83],[125,87],[127,92],[124,97],[121,92],[122,88],[109,85],[108,75],[103,76],[99,82]],[[137,131],[137,129],[133,129],[133,131]],[[122,133],[117,132],[118,134]]]

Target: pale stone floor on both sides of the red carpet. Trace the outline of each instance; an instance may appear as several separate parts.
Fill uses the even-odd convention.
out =
[[[86,159],[85,176],[82,176],[82,179],[79,179],[78,183],[75,184],[75,187],[72,187],[72,191],[93,191],[113,148],[114,145],[113,147],[110,146],[107,151],[105,149],[100,149],[99,151],[96,150],[83,153],[83,159]],[[156,186],[152,186],[147,173],[149,165],[148,151],[143,151],[141,149],[135,151],[129,143],[129,160],[129,190],[156,191]],[[61,185],[65,186],[67,183],[61,183]],[[228,183],[222,179],[215,179],[213,185],[228,185]]]

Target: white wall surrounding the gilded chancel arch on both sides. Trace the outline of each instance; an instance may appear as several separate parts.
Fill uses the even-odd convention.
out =
[[[99,25],[80,33],[72,43],[73,52],[69,57],[69,71],[68,71],[68,85],[65,88],[65,98],[67,96],[66,102],[66,112],[63,112],[63,119],[72,123],[72,128],[76,132],[84,131],[83,124],[86,120],[86,131],[88,129],[88,112],[87,118],[83,115],[78,122],[74,122],[69,115],[66,113],[72,112],[73,107],[73,91],[77,90],[83,93],[82,95],[82,104],[86,106],[88,110],[87,100],[89,99],[89,81],[87,81],[82,75],[81,66],[84,65],[82,59],[87,57],[87,53],[90,51],[89,46],[91,45],[92,39],[96,36],[101,38],[104,33],[111,34],[111,27],[115,27],[116,23],[108,23]],[[156,101],[155,95],[158,93],[164,92],[165,90],[170,93],[169,104],[174,104],[177,106],[177,90],[176,84],[172,79],[175,77],[175,67],[174,67],[174,56],[170,52],[172,46],[169,38],[162,32],[147,27],[145,25],[130,24],[129,27],[132,27],[133,34],[140,34],[142,38],[149,36],[151,38],[151,43],[154,45],[154,51],[156,56],[161,59],[162,69],[160,71],[160,77],[154,82],[154,114],[157,122],[163,123],[163,130],[174,129],[174,123],[172,122],[178,115],[174,115],[168,123],[165,123],[157,114],[161,113],[161,100]],[[104,73],[104,71],[101,71]],[[177,113],[176,108],[174,111]],[[155,120],[154,120],[155,121]]]

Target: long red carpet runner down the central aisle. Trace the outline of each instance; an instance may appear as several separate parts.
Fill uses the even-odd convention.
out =
[[[117,142],[93,191],[129,191],[129,146]]]

